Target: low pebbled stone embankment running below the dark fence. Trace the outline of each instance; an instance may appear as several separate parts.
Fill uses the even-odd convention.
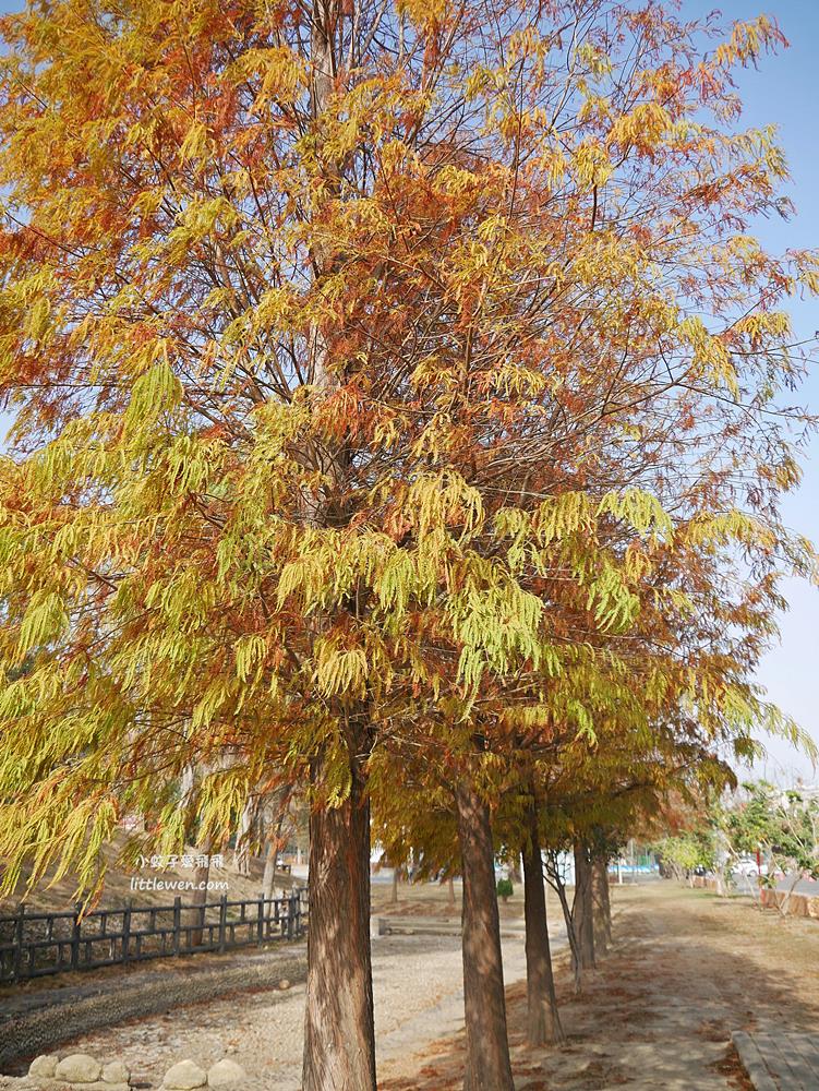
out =
[[[306,949],[299,946],[292,954],[277,950],[269,959],[246,966],[165,976],[161,968],[150,981],[131,988],[122,983],[118,993],[105,992],[55,1004],[48,1008],[9,1019],[0,1023],[0,1070],[10,1063],[45,1053],[61,1042],[88,1031],[113,1027],[128,1019],[157,1015],[172,1007],[186,1007],[200,1000],[214,999],[244,988],[280,987],[282,979],[290,982],[306,979]]]

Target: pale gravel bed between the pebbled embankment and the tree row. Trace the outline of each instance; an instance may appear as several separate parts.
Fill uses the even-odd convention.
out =
[[[422,1054],[431,1042],[462,1026],[460,958],[457,936],[373,940],[375,1034],[383,1078],[406,1069],[413,1054]],[[507,984],[525,978],[522,939],[505,940],[504,968]],[[287,992],[244,991],[96,1030],[65,1043],[59,1052],[120,1057],[145,1088],[157,1088],[165,1070],[183,1057],[207,1067],[229,1054],[248,1071],[244,1091],[298,1091],[303,1015],[301,983]]]

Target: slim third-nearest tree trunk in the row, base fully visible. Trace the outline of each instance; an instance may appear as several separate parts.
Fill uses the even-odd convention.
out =
[[[546,891],[540,851],[538,812],[529,807],[529,836],[523,846],[523,899],[526,915],[526,1039],[529,1045],[557,1045],[566,1041],[557,1011],[557,997],[549,947]]]

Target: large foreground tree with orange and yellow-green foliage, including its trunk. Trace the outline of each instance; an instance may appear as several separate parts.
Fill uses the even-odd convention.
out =
[[[779,32],[712,53],[602,0],[2,26],[7,887],[33,856],[93,889],[135,813],[140,850],[222,844],[298,782],[304,1087],[363,1091],[371,808],[397,856],[475,861],[478,934],[493,838],[534,813],[586,852],[795,731],[752,672],[814,566],[774,410],[815,257],[749,235],[784,165],[726,68]],[[502,1091],[492,944],[467,1083]]]

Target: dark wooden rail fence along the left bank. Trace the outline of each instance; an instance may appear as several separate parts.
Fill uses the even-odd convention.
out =
[[[125,906],[0,916],[0,984],[73,970],[140,962],[200,951],[226,951],[304,935],[306,889],[286,898],[184,906]]]

